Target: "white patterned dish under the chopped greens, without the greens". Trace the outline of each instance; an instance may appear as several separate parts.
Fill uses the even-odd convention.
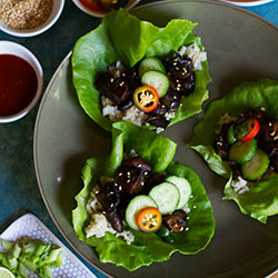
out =
[[[36,216],[27,214],[13,221],[1,235],[6,240],[17,240],[28,236],[60,246],[63,251],[63,262],[60,268],[53,269],[53,278],[95,278],[96,276],[42,224]],[[2,249],[0,248],[2,251]],[[37,277],[30,275],[31,277]]]

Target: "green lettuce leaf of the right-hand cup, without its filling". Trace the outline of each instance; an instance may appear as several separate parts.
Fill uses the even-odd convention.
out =
[[[260,182],[250,182],[249,191],[238,193],[231,186],[230,167],[212,147],[219,119],[226,112],[238,118],[249,108],[259,107],[266,109],[267,118],[278,119],[278,80],[260,79],[257,82],[244,82],[225,98],[212,101],[203,118],[196,125],[193,138],[188,146],[202,156],[212,171],[228,179],[224,199],[236,201],[242,214],[265,224],[268,216],[278,214],[278,175],[266,176]]]

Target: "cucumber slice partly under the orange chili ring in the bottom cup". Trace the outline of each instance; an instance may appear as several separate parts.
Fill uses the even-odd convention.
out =
[[[126,209],[126,221],[132,229],[139,230],[136,224],[136,216],[139,210],[147,207],[158,208],[157,202],[150,196],[138,195],[129,202]]]

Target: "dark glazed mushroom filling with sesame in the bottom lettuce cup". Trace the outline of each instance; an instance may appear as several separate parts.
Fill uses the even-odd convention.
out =
[[[123,160],[115,179],[105,183],[98,182],[99,190],[96,197],[102,206],[101,212],[116,231],[122,232],[123,215],[129,201],[137,195],[148,193],[152,187],[165,179],[163,172],[151,175],[150,165],[141,157]],[[187,220],[188,217],[183,210],[176,210],[162,217],[163,228],[170,232],[182,231]]]

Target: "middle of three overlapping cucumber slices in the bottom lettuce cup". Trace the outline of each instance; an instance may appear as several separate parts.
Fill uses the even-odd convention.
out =
[[[150,190],[149,196],[158,203],[158,209],[161,215],[168,215],[175,211],[180,198],[179,189],[168,181],[155,186]]]

